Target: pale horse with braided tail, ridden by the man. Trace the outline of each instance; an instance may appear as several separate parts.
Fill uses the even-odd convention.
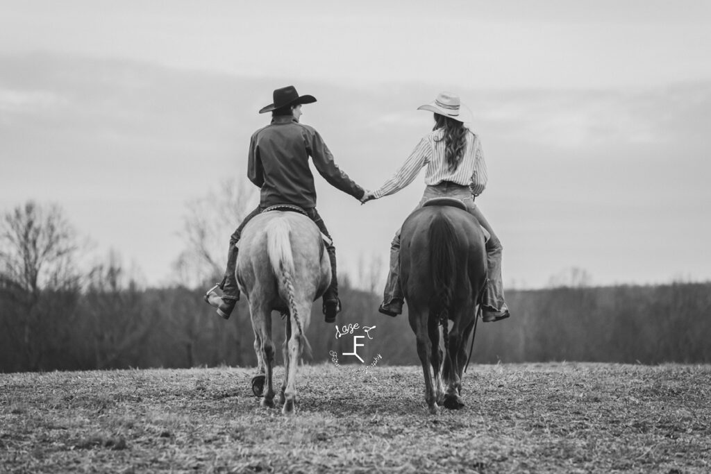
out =
[[[252,218],[240,239],[237,283],[250,304],[260,373],[252,379],[252,388],[262,392],[262,406],[274,406],[272,311],[287,315],[279,403],[284,414],[292,414],[299,356],[304,349],[311,352],[305,335],[311,305],[331,284],[331,263],[319,227],[299,212],[271,210]]]

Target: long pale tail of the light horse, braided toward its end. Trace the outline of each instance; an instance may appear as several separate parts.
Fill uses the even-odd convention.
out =
[[[296,340],[299,341],[299,352],[306,350],[311,357],[311,345],[304,334],[299,311],[296,309],[296,291],[294,290],[294,254],[292,242],[289,239],[291,227],[284,219],[273,220],[267,230],[267,254],[272,264],[274,276],[277,276],[279,293],[287,300],[289,313],[296,325]]]

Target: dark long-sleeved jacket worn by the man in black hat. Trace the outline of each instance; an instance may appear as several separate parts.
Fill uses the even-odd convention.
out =
[[[262,189],[262,207],[277,204],[292,204],[304,209],[316,207],[309,156],[316,171],[334,188],[356,199],[363,197],[363,188],[338,168],[319,132],[296,122],[294,117],[277,116],[271,124],[255,131],[250,140],[247,177]]]

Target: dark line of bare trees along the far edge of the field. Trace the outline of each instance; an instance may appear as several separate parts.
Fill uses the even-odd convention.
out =
[[[186,226],[193,232],[188,249],[197,253],[181,255],[183,268],[208,254],[209,232],[198,227]],[[199,288],[215,281],[216,263],[211,273],[205,266],[197,284],[144,288],[116,254],[80,269],[80,248],[60,208],[30,202],[4,214],[0,371],[256,364],[245,301],[225,321],[202,300]],[[550,289],[508,291],[512,318],[479,323],[472,362],[711,362],[711,283],[591,287],[582,276]],[[373,328],[367,340],[359,340],[358,353],[366,362],[380,355],[379,364],[419,364],[407,313],[397,318],[378,313],[379,295],[373,290],[357,289],[343,278],[345,310],[338,330],[324,323],[320,301],[314,303],[306,333],[312,362],[330,361],[331,351],[352,352],[353,338],[337,336],[343,325],[357,323]],[[277,313],[273,319],[280,345],[284,329]],[[341,356],[339,362],[358,360]]]

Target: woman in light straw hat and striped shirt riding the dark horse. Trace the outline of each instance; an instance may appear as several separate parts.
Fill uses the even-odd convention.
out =
[[[486,163],[479,136],[470,131],[464,122],[471,122],[471,114],[461,107],[459,96],[440,92],[437,99],[417,108],[434,112],[434,128],[425,135],[402,163],[395,175],[372,193],[366,193],[361,202],[382,198],[397,193],[412,183],[419,171],[427,166],[424,176],[421,208],[432,198],[456,198],[462,200],[467,210],[479,220],[481,227],[491,237],[486,242],[486,266],[488,280],[483,294],[483,321],[499,321],[510,316],[503,299],[501,279],[501,253],[503,247],[474,198],[486,188]],[[387,275],[383,303],[378,311],[388,316],[402,313],[402,289],[400,289],[400,230],[390,245],[390,273]]]

